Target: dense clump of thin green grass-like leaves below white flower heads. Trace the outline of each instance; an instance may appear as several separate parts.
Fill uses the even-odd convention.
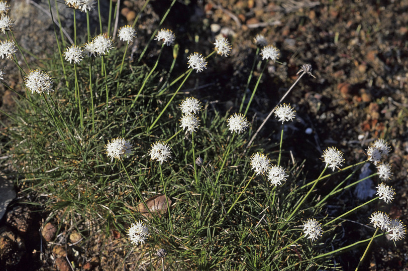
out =
[[[324,208],[331,197],[362,181],[346,185],[368,160],[340,171],[343,154],[328,148],[321,175],[306,176],[304,162],[288,159],[284,153],[283,126],[295,117],[286,104],[271,111],[276,109],[282,122],[281,140],[272,145],[262,140],[253,144],[257,123],[249,126],[244,115],[232,116],[239,117],[237,125],[245,123],[234,130],[228,117],[235,112],[219,112],[200,101],[202,108],[193,117],[199,126],[188,130],[187,123],[187,130],[182,129],[179,104],[186,96],[187,78],[200,76],[211,65],[213,54],[228,55],[231,47],[228,40],[218,40],[215,51],[207,57],[191,54],[190,68],[186,60],[186,71],[174,75],[158,65],[165,38],[157,38],[163,45],[153,67],[125,61],[128,43],[100,57],[85,56],[78,63],[64,62],[59,48],[58,54],[44,61],[43,69],[54,77],[54,92],[27,92],[20,96],[15,112],[4,112],[13,124],[3,148],[13,169],[23,176],[16,180],[21,193],[30,194],[33,204],[41,203],[49,213],[48,221],[70,224],[84,238],[100,231],[109,235],[113,229],[126,236],[132,223],[144,220],[150,232],[144,239],[151,249],[148,262],[154,261],[155,249],[165,248],[163,266],[172,269],[341,268],[333,255],[343,248],[330,251],[327,243],[338,241],[336,227],[343,215],[329,218]],[[91,41],[90,34],[86,40]],[[174,48],[176,59],[180,55]],[[279,57],[273,46],[261,51],[266,61],[245,113],[265,67]],[[254,60],[248,86],[258,61]],[[312,72],[309,66],[300,71],[299,77]],[[245,102],[244,97],[239,111]],[[117,138],[132,148],[126,155],[108,157],[106,145]],[[170,147],[171,158],[166,157],[164,163],[151,160],[149,150],[155,142]],[[272,159],[264,155],[278,146]],[[281,167],[284,175],[274,185],[270,183],[272,164]],[[333,172],[324,175],[328,167]],[[335,174],[341,174],[342,181],[325,195],[317,193],[318,183]],[[165,198],[161,213],[148,204],[158,195]],[[147,212],[142,214],[143,207]],[[323,230],[312,218],[323,224]],[[316,222],[312,233],[305,231],[311,221]],[[126,254],[132,253],[133,245],[124,237],[121,245]]]

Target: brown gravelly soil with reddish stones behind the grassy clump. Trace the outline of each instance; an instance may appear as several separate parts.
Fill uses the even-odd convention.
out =
[[[128,5],[132,10],[143,3]],[[141,45],[169,3],[157,0],[149,4],[146,16],[141,17],[137,26]],[[124,17],[122,20],[125,23]],[[369,238],[373,228],[364,225],[375,210],[385,211],[405,224],[408,222],[408,1],[220,0],[191,1],[188,5],[177,2],[163,26],[176,33],[181,54],[189,50],[179,58],[176,69],[180,71],[185,70],[185,59],[190,52],[211,52],[216,35],[222,33],[231,40],[233,50],[227,59],[212,59],[205,72],[199,77],[190,77],[188,82],[191,88],[197,87],[191,90],[193,95],[213,102],[220,110],[239,108],[255,57],[253,37],[256,34],[263,34],[270,44],[281,50],[282,64],[267,67],[248,113],[254,118],[255,129],[297,78],[300,66],[312,64],[316,79],[304,76],[284,100],[297,111],[297,121],[289,125],[286,141],[290,147],[286,150],[292,151],[299,161],[306,159],[306,168],[313,173],[321,170],[319,158],[327,147],[336,146],[343,151],[345,164],[351,165],[366,158],[365,149],[373,140],[386,139],[392,147],[389,159],[394,173],[388,185],[396,189],[395,199],[389,205],[369,205],[349,216],[339,234],[344,234],[345,244]],[[156,51],[152,49],[149,57],[158,49],[158,46]],[[171,50],[165,53],[171,54]],[[150,65],[148,57],[145,59]],[[260,69],[256,69],[251,90]],[[11,94],[2,91],[0,95],[2,108],[10,110]],[[313,132],[305,133],[307,128]],[[279,129],[276,121],[270,120],[259,136],[276,142]],[[377,183],[374,179],[371,187]],[[328,207],[328,212],[331,215],[332,212],[343,213],[350,206],[366,201],[358,199],[353,192],[342,194]],[[36,214],[32,220],[36,222],[30,222],[34,231],[38,232],[42,216],[45,215]],[[116,257],[104,255],[93,259],[91,253],[95,242],[100,246],[105,241],[114,247],[115,234],[109,240],[103,236],[95,238],[97,241],[92,239],[80,248],[89,251],[78,262],[92,262],[91,267],[98,270],[115,269],[122,261],[120,252],[114,248],[110,251],[118,256],[117,261]],[[30,243],[26,243],[26,247],[30,249],[28,254],[33,254],[33,249],[40,250]],[[365,245],[348,251],[336,261],[345,270],[354,270],[364,249]],[[376,239],[361,270],[408,270],[407,253],[406,240],[398,241],[395,247],[385,237]],[[33,260],[31,254],[24,257],[26,262]],[[36,259],[39,260],[39,256]],[[44,270],[55,268],[51,259],[42,261]],[[32,266],[39,268],[36,264]]]

